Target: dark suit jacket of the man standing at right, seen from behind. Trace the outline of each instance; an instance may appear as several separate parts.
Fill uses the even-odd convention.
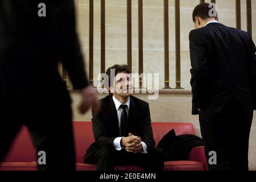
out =
[[[247,32],[210,23],[192,30],[189,43],[192,114],[209,105],[219,113],[232,95],[254,99],[256,109],[256,48]]]

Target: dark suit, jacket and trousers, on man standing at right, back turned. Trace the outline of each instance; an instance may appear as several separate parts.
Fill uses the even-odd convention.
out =
[[[209,169],[247,170],[256,109],[253,40],[245,31],[209,23],[192,30],[189,42],[192,114],[199,114],[206,155],[217,152],[217,165],[209,165]]]

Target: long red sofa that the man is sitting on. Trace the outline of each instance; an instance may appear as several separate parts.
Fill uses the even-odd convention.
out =
[[[86,149],[93,143],[92,122],[73,122],[76,146],[76,170],[94,171],[95,165],[83,164]],[[195,134],[191,123],[152,123],[156,144],[171,129],[176,135]],[[36,170],[36,151],[32,146],[31,138],[26,127],[23,127],[14,140],[9,154],[4,162],[0,163],[0,171],[34,171]],[[117,171],[142,171],[136,166],[117,166]],[[192,148],[188,161],[170,161],[164,163],[166,171],[204,171],[208,170],[204,154],[204,147]]]

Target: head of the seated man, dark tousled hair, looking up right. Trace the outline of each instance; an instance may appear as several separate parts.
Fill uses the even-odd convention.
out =
[[[111,71],[114,72],[113,76]],[[133,84],[129,73],[129,68],[125,64],[115,64],[106,71],[106,75],[109,77],[109,93],[113,94],[115,98],[129,97],[133,93]]]

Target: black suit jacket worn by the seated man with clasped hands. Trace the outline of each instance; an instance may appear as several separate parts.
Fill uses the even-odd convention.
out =
[[[150,109],[147,102],[139,100],[136,97],[130,97],[129,107],[129,132],[140,136],[147,145],[147,151],[155,147],[155,140],[152,134]],[[106,96],[101,99],[100,112],[92,118],[93,134],[95,142],[86,151],[85,157],[90,157],[96,150],[113,146],[113,141],[119,136],[119,124],[117,110],[112,96]]]

